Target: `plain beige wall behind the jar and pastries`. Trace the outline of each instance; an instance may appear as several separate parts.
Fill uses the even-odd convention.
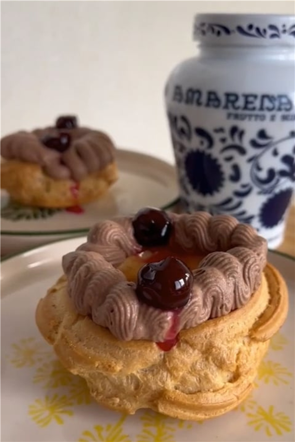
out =
[[[294,1],[1,1],[1,135],[63,113],[170,162],[163,88],[195,54],[198,12],[294,13]]]

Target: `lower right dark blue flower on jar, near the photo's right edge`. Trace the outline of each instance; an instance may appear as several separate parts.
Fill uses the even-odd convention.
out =
[[[259,212],[259,219],[264,227],[270,229],[282,221],[292,194],[293,189],[290,187],[281,190],[266,200]]]

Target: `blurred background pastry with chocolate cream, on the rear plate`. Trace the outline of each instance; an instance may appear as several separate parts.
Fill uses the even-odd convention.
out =
[[[115,146],[74,116],[0,141],[0,187],[25,206],[71,207],[103,195],[117,180]]]

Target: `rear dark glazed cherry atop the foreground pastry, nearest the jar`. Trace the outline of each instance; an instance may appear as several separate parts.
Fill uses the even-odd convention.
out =
[[[172,231],[167,214],[155,208],[140,210],[132,221],[134,237],[144,247],[166,245]]]

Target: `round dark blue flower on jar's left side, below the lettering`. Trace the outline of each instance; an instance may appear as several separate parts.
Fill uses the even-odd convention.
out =
[[[193,150],[187,154],[184,163],[188,180],[195,191],[213,195],[223,186],[221,165],[210,153]]]

